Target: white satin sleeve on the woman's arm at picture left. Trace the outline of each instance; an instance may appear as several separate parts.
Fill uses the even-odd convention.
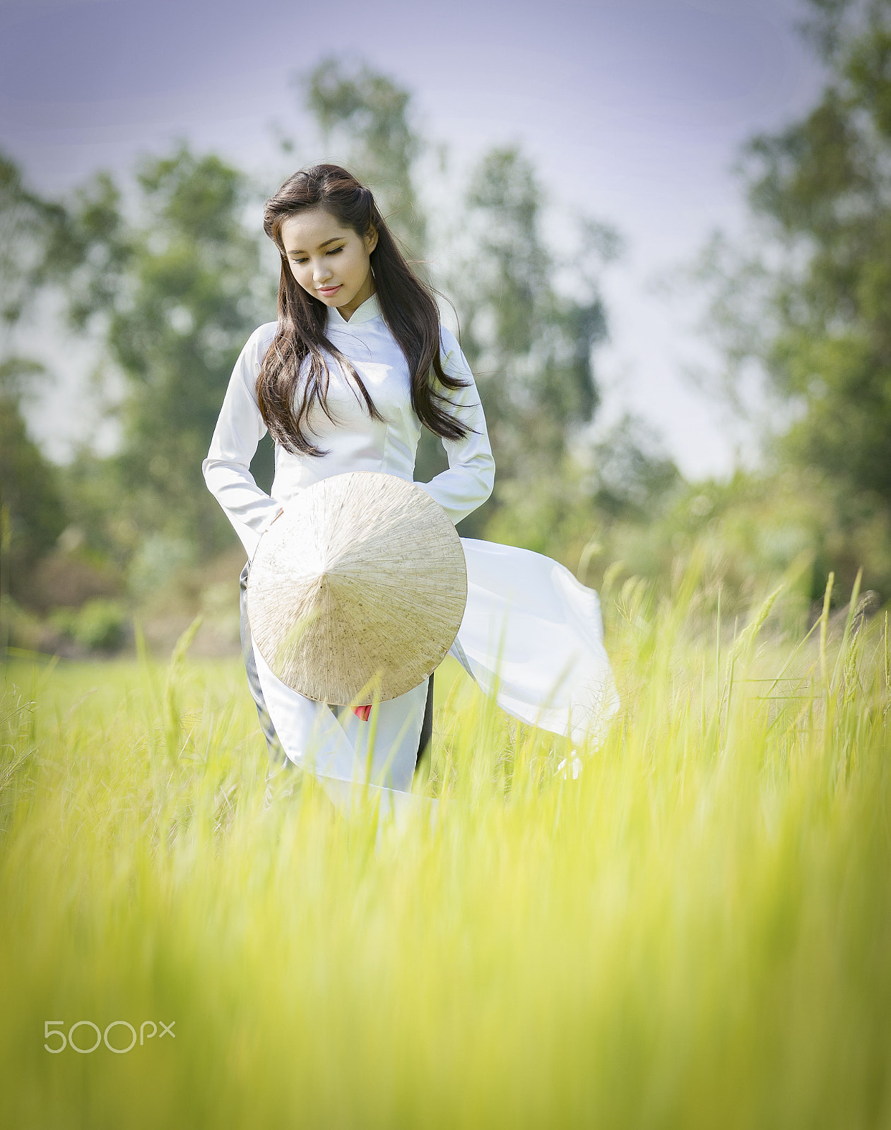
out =
[[[267,323],[248,338],[232,371],[207,459],[201,463],[208,490],[225,511],[249,557],[279,510],[250,470],[267,431],[257,401],[257,375],[274,332],[275,323]]]

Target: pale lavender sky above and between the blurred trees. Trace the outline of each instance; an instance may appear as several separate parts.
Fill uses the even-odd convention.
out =
[[[796,32],[805,15],[803,0],[0,0],[0,148],[61,195],[188,138],[271,192],[275,123],[312,141],[294,75],[330,54],[364,60],[413,93],[455,167],[517,142],[555,215],[618,229],[598,427],[635,411],[689,478],[725,477],[754,437],[690,380],[715,364],[694,328],[701,296],[668,301],[654,282],[716,227],[744,231],[741,145],[795,120],[824,82]],[[61,460],[96,434],[90,355],[29,332],[57,374],[29,423]]]

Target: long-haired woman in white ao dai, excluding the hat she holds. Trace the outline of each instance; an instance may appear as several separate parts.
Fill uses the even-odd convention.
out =
[[[336,782],[367,780],[406,792],[430,741],[433,676],[380,703],[373,720],[367,707],[328,706],[292,690],[251,641],[250,558],[312,483],[363,470],[412,481],[422,426],[442,440],[449,469],[418,486],[459,522],[494,483],[483,407],[431,292],[370,190],[349,173],[336,165],[295,173],[267,202],[263,227],[282,259],[278,320],[248,339],[202,464],[248,551],[241,625],[249,684],[273,760],[311,767],[335,791]],[[250,472],[267,429],[271,496]],[[538,554],[461,542],[468,599],[452,653],[514,716],[581,740],[616,706],[596,593]]]

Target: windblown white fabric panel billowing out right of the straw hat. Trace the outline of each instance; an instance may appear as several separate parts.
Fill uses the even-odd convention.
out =
[[[618,709],[597,593],[530,549],[461,545],[467,607],[456,654],[509,714],[596,745]]]

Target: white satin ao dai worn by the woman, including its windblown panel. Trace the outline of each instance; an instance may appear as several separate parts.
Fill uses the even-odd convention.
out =
[[[327,166],[330,167],[330,166]],[[358,297],[362,297],[360,292]],[[305,418],[309,455],[275,444],[275,478],[266,494],[250,463],[267,425],[257,381],[277,322],[259,327],[235,364],[210,449],[202,464],[209,490],[237,532],[249,560],[260,536],[301,490],[346,471],[382,471],[414,480],[422,423],[412,403],[406,357],[387,325],[378,296],[361,301],[348,319],[328,304],[326,337],[355,367],[380,419],[374,419],[352,375],[326,351],[328,415],[315,403]],[[455,336],[440,327],[440,359],[465,386],[450,390],[451,414],[466,425],[462,438],[443,438],[449,468],[424,490],[457,523],[492,493],[495,464],[473,374]],[[508,713],[581,741],[602,730],[617,705],[603,647],[597,594],[562,565],[529,550],[461,538],[467,563],[467,606],[452,653]],[[334,710],[279,680],[256,646],[253,659],[269,719],[287,758],[334,782],[367,781],[410,789],[426,702],[426,680],[375,706],[371,721]]]

